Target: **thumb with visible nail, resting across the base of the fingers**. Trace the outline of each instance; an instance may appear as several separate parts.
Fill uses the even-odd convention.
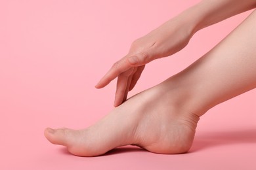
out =
[[[138,54],[130,56],[129,58],[127,58],[127,60],[130,65],[136,67],[149,63],[150,61],[155,59],[154,57],[155,56],[152,54],[152,52],[140,52]]]

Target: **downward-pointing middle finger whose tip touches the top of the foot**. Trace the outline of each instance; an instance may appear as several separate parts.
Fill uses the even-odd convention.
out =
[[[133,73],[133,67],[124,73],[121,73],[121,75],[117,78],[117,86],[116,86],[116,96],[114,101],[114,107],[117,107],[121,105],[123,102],[123,98],[125,96],[125,90],[127,89],[127,84],[129,80],[129,76]]]

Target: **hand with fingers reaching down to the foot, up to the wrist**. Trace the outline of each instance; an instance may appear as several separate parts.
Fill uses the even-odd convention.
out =
[[[118,76],[114,106],[121,105],[139,80],[146,63],[175,54],[188,44],[194,31],[188,23],[178,16],[134,41],[129,53],[116,61],[95,87],[104,88]]]

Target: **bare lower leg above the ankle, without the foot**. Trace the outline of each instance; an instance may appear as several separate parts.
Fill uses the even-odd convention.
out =
[[[205,56],[177,75],[193,86],[198,116],[256,88],[256,10]],[[200,114],[200,112],[202,112]]]

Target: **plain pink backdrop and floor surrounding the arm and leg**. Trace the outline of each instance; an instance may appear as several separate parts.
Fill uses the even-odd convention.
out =
[[[111,110],[116,84],[96,90],[99,78],[133,40],[198,1],[1,0],[0,169],[256,169],[255,90],[209,110],[188,154],[128,146],[81,158],[43,136],[45,127],[87,127]],[[148,64],[130,95],[184,69],[248,14]]]

